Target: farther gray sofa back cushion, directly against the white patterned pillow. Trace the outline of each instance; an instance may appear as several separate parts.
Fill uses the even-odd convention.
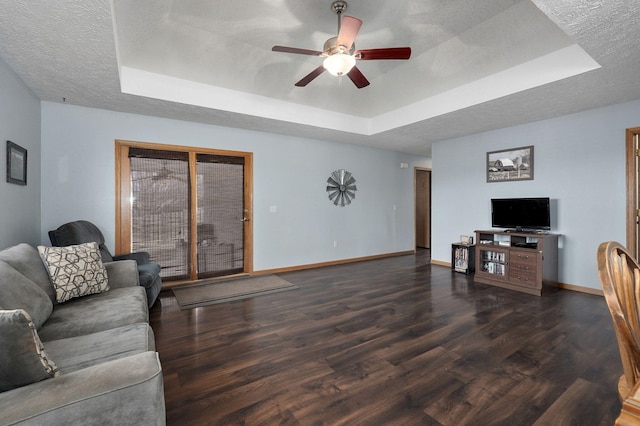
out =
[[[7,262],[13,269],[37,284],[47,293],[51,302],[56,303],[56,293],[38,249],[29,244],[21,243],[0,251],[0,260]]]

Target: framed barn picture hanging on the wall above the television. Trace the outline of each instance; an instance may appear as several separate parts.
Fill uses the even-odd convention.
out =
[[[487,152],[487,182],[533,179],[533,146]]]

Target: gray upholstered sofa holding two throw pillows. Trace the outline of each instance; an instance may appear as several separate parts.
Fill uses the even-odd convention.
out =
[[[136,262],[104,267],[108,290],[58,303],[38,249],[19,244],[0,251],[0,312],[30,320],[43,349],[36,359],[57,367],[55,375],[47,370],[55,377],[7,385],[11,368],[19,368],[6,358],[19,340],[6,332],[10,321],[0,323],[0,385],[12,387],[0,392],[0,425],[166,423],[162,369]]]

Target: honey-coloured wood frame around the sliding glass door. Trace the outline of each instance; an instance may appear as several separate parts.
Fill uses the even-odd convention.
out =
[[[243,274],[253,273],[253,153],[245,151],[228,151],[211,148],[190,147],[183,145],[165,145],[159,143],[150,142],[137,142],[128,140],[115,141],[115,166],[116,166],[116,254],[128,253],[131,251],[131,229],[124,229],[125,223],[131,223],[131,174],[130,168],[127,166],[129,160],[129,148],[145,148],[155,149],[162,151],[180,151],[189,152],[189,156],[194,157],[196,154],[210,154],[210,155],[222,155],[228,157],[243,157],[244,158],[244,217],[247,220],[243,220]],[[189,165],[189,178],[191,185],[196,185],[196,165],[190,161]],[[123,182],[127,182],[124,185]],[[192,200],[195,203],[195,200]],[[192,208],[192,216],[196,214],[195,209]],[[191,226],[195,229],[197,224],[191,217]],[[195,241],[191,245],[191,259],[196,259],[196,246]],[[190,271],[191,278],[189,282],[197,281],[197,274],[192,268]],[[182,281],[184,282],[184,281]],[[182,282],[172,282],[172,284],[179,284]]]

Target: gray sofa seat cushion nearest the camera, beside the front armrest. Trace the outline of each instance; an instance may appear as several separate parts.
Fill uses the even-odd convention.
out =
[[[146,351],[155,351],[149,324],[139,323],[47,342],[47,353],[63,374]]]

